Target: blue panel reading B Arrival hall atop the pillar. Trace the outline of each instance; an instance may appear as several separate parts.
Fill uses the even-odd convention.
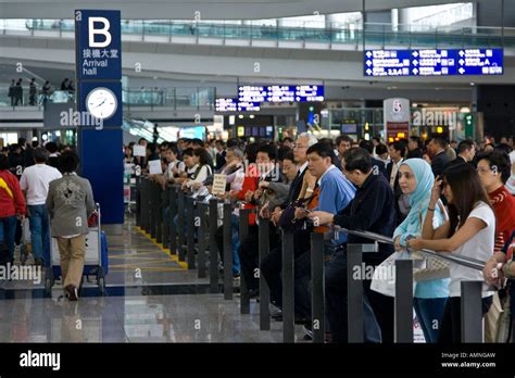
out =
[[[120,11],[75,11],[78,79],[122,79]]]

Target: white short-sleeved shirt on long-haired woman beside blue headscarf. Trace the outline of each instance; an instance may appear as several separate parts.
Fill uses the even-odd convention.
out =
[[[480,261],[487,261],[493,255],[493,244],[495,239],[495,215],[485,202],[478,202],[468,217],[481,219],[487,227],[468,239],[457,250],[452,251],[453,255],[473,257]],[[476,270],[463,265],[451,263],[451,282],[449,285],[450,297],[461,297],[462,281],[479,280],[483,281],[482,272]],[[486,285],[482,287],[482,298],[493,295],[493,291],[486,291]]]

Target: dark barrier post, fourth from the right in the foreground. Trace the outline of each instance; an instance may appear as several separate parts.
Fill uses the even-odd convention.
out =
[[[322,343],[325,338],[324,234],[311,234],[311,279],[313,342]]]

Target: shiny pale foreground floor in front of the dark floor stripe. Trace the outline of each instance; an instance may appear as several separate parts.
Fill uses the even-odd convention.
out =
[[[221,294],[17,299],[0,302],[0,342],[281,342],[281,323],[260,331],[256,303]],[[296,326],[302,341],[301,326]]]

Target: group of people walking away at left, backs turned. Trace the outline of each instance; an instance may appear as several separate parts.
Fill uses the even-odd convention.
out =
[[[64,294],[71,301],[78,299],[88,219],[96,212],[89,181],[76,174],[78,163],[70,147],[39,147],[24,138],[0,153],[1,264],[13,266],[23,227],[29,228],[36,266],[51,266],[50,238],[56,238]]]

